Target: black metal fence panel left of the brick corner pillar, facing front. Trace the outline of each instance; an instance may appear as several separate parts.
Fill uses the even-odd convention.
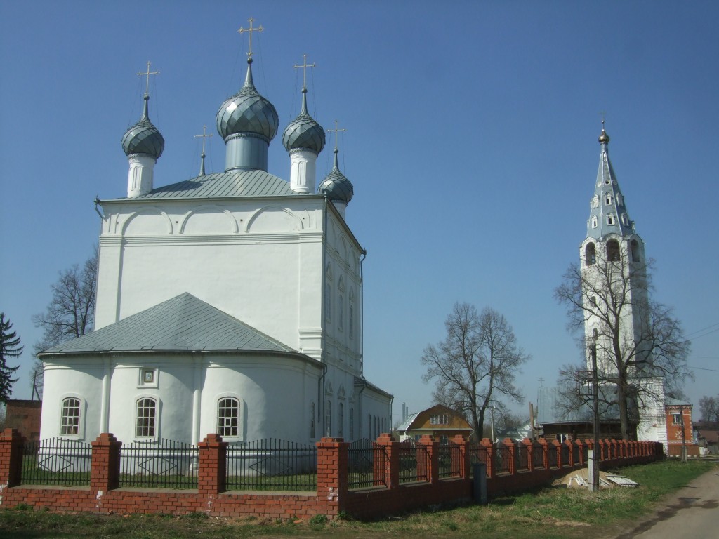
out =
[[[265,438],[227,446],[226,488],[317,489],[317,447]]]

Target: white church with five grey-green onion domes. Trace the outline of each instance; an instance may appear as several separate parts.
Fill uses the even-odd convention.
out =
[[[206,174],[203,152],[196,178],[154,184],[165,141],[146,91],[122,139],[127,197],[96,201],[95,330],[40,354],[41,438],[311,443],[390,428],[392,395],[363,375],[352,183],[335,144],[316,186],[325,132],[306,87],[283,132],[290,180],[267,172],[278,114],[255,88],[249,51],[244,86],[216,114],[224,172]]]

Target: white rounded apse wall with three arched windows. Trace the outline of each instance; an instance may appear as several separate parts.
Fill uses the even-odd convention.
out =
[[[114,357],[110,368],[109,432],[123,443],[137,438],[137,402],[157,402],[155,434],[187,443],[216,433],[218,402],[233,397],[240,402],[239,436],[226,441],[283,438],[310,443],[310,406],[317,402],[321,367],[305,359],[273,354],[163,354]],[[145,384],[143,374],[152,372]],[[48,362],[41,437],[60,436],[61,408],[65,397],[78,397],[81,428],[78,436],[91,441],[101,433],[104,362],[97,356]],[[72,391],[63,388],[72,387]],[[199,391],[198,409],[194,395]]]

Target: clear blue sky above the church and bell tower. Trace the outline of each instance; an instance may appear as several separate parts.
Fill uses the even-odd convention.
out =
[[[553,298],[585,239],[601,120],[628,214],[656,259],[653,298],[692,340],[690,402],[719,393],[719,4],[710,1],[5,1],[0,3],[0,310],[22,338],[13,397],[29,398],[32,324],[58,272],[99,236],[93,199],[127,193],[120,142],[139,119],[165,137],[155,186],[224,169],[215,114],[244,80],[280,116],[269,172],[289,178],[281,130],[301,103],[339,121],[362,247],[365,376],[393,417],[431,405],[427,344],[456,302],[490,306],[541,385],[580,358]],[[332,137],[318,178],[332,165]],[[12,364],[12,362],[11,362]]]

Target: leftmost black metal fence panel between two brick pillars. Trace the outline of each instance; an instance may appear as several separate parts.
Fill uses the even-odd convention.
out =
[[[88,485],[92,446],[65,438],[25,443],[21,484]]]

